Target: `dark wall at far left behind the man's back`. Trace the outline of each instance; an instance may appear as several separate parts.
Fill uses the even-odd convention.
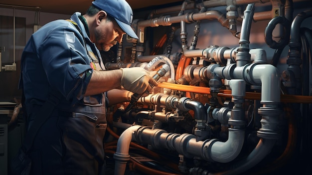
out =
[[[4,30],[0,32],[1,62],[4,64],[13,63],[13,8],[0,8],[0,23],[7,23]],[[5,17],[6,16],[6,17]],[[16,71],[0,72],[0,101],[14,102],[14,98],[19,99],[21,91],[18,90],[18,80],[20,73],[20,57],[25,43],[33,33],[33,26],[36,23],[35,11],[15,9],[15,63]],[[44,25],[56,19],[68,19],[70,15],[40,12],[39,25]],[[3,21],[4,20],[4,21]],[[4,25],[1,26],[4,26]],[[0,26],[0,28],[1,28]],[[11,28],[10,28],[11,27]],[[5,47],[5,50],[3,49]]]

